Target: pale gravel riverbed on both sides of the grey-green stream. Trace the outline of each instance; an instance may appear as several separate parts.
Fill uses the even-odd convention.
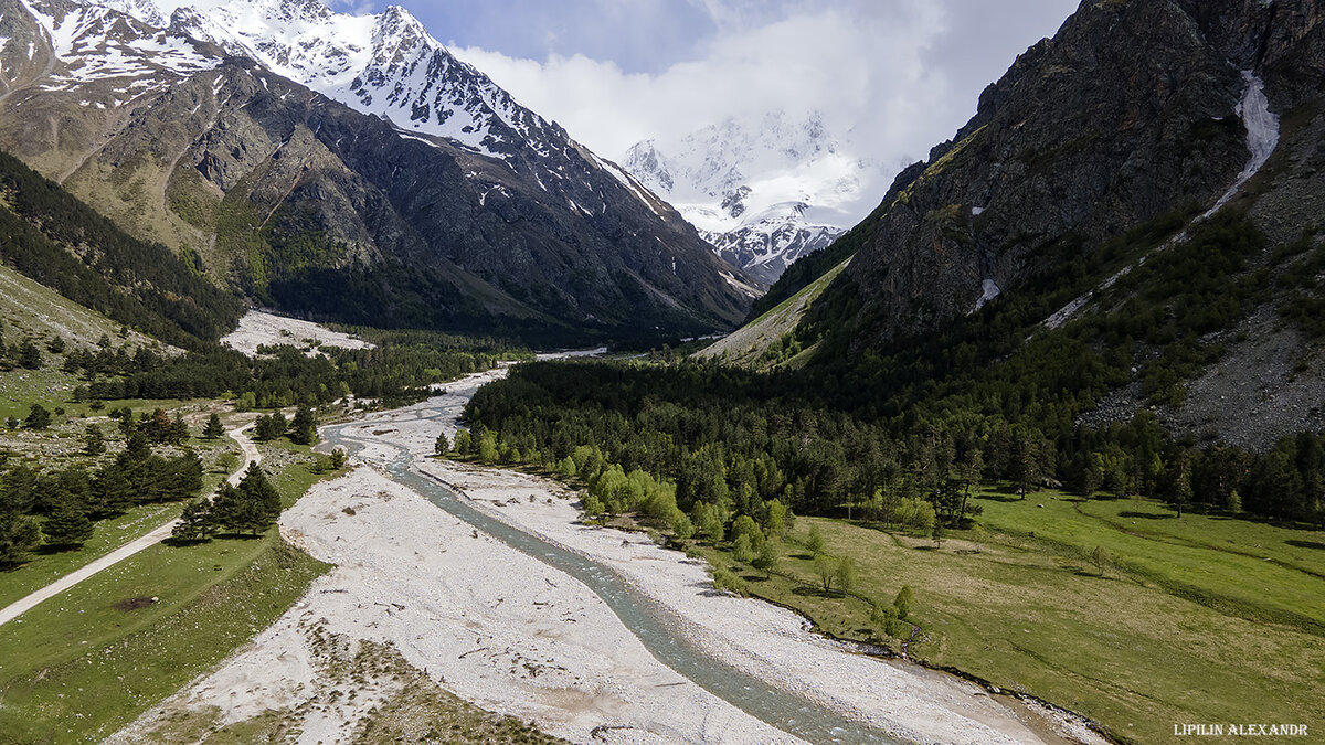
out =
[[[472,392],[502,374],[473,375],[339,433],[363,443],[360,461],[386,463],[399,449],[423,461],[439,430],[454,433]],[[572,498],[551,481],[441,461],[420,469],[485,513],[610,567],[713,659],[843,717],[905,741],[1098,742],[1084,728],[1012,711],[959,679],[851,654],[783,608],[714,593],[701,563],[643,536],[578,525]],[[326,640],[335,639],[351,648],[390,646],[445,691],[576,742],[799,742],[660,663],[582,582],[374,467],[315,487],[282,516],[281,530],[337,569],[249,648],[135,722],[122,741],[150,738],[189,712],[205,712],[213,726],[276,717],[301,742],[350,741],[399,689],[371,676],[344,680],[326,655]]]

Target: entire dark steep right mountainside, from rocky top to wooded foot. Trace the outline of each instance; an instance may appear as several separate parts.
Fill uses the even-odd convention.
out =
[[[1146,410],[1248,448],[1325,431],[1320,20],[1308,1],[1083,3],[753,315],[851,257],[791,338],[856,398],[901,391],[884,411]],[[787,346],[762,342],[745,358]]]

